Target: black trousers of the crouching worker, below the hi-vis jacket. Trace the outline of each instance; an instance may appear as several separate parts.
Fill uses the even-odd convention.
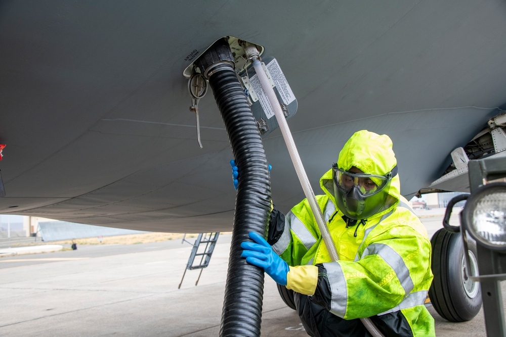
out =
[[[313,337],[372,337],[362,321],[344,319],[332,314],[310,296],[295,293],[295,305],[306,332]],[[374,325],[385,336],[411,336],[412,331],[400,311],[371,317]]]

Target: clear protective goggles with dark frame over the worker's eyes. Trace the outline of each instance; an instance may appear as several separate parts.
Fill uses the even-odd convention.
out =
[[[337,164],[332,165],[332,172],[335,185],[345,194],[356,187],[362,197],[370,197],[385,188],[397,175],[397,166],[386,175],[349,172],[338,168]]]

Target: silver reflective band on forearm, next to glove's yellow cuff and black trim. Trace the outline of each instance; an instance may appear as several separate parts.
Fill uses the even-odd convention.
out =
[[[344,317],[348,295],[346,290],[346,279],[338,262],[323,263],[327,271],[328,283],[330,285],[330,312],[336,316]]]

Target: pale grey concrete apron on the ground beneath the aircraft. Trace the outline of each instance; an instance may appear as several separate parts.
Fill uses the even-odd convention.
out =
[[[441,228],[440,219],[422,220],[430,235]],[[0,336],[219,335],[229,250],[230,235],[220,235],[198,285],[199,270],[188,270],[180,290],[191,251],[181,240],[0,258]],[[483,309],[463,323],[429,311],[438,336],[486,336]],[[261,332],[307,335],[269,276]]]

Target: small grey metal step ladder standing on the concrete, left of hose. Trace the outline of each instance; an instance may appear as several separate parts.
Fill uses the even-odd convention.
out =
[[[195,285],[198,284],[200,275],[202,275],[202,269],[209,265],[209,261],[211,259],[211,256],[213,255],[216,242],[218,241],[218,236],[220,236],[219,232],[200,233],[198,234],[197,239],[193,244],[185,239],[186,234],[183,236],[183,241],[181,243],[186,242],[192,245],[193,248],[191,250],[190,258],[188,259],[188,263],[186,264],[185,272],[183,273],[183,277],[181,278],[181,283],[179,283],[178,289],[181,288],[181,284],[183,284],[183,279],[185,278],[186,270],[188,269],[189,270],[200,269],[200,274],[198,275],[197,281],[195,282]],[[203,247],[203,250],[202,249],[199,250],[200,247]],[[197,260],[196,264],[194,264],[195,259]]]

